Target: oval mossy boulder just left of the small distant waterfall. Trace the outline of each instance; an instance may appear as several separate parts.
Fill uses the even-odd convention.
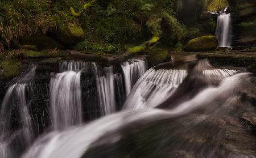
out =
[[[218,39],[215,36],[201,36],[190,40],[185,45],[184,50],[187,52],[205,52],[212,51],[218,47]]]

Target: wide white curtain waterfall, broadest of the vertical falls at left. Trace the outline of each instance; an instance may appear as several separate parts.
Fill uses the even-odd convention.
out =
[[[82,123],[81,71],[56,74],[50,83],[51,116],[54,130]]]

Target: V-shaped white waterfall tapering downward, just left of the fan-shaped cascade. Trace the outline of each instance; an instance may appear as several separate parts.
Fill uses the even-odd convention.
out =
[[[128,96],[137,80],[148,70],[147,61],[131,59],[122,63],[121,67],[125,76],[126,96]]]

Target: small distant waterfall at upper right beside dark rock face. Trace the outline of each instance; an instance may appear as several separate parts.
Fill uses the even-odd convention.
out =
[[[231,15],[226,14],[226,10],[228,7],[225,8],[224,12],[220,12],[218,16],[217,28],[216,28],[216,37],[218,38],[218,46],[219,47],[231,47],[232,41],[232,21]]]

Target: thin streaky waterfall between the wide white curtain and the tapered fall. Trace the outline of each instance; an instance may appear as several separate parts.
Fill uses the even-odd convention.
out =
[[[100,101],[100,108],[102,116],[115,112],[115,93],[114,93],[114,73],[113,66],[98,67],[96,63],[93,63],[96,82],[98,99]],[[103,71],[103,72],[102,72]]]

